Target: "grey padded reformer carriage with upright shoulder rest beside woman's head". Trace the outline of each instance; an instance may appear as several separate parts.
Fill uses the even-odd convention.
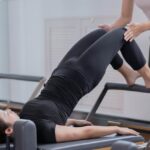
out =
[[[132,141],[135,143],[143,143],[142,136],[114,136],[103,137],[97,139],[80,140],[72,142],[64,142],[58,144],[38,145],[36,141],[36,127],[30,120],[19,120],[14,125],[14,144],[10,145],[10,150],[92,150],[92,149],[111,149],[111,145],[118,141]],[[7,146],[9,147],[9,146]],[[4,145],[3,145],[4,148]],[[0,150],[5,150],[1,149]]]

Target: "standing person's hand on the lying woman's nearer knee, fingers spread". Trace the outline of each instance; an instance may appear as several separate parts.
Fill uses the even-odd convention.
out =
[[[126,27],[127,31],[124,33],[124,39],[126,41],[132,41],[135,39],[139,34],[143,32],[143,25],[137,23],[128,24]]]

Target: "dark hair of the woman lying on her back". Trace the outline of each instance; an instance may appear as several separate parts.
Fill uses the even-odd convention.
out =
[[[6,142],[6,134],[5,134],[5,129],[8,128],[8,125],[0,120],[0,143],[5,143]]]

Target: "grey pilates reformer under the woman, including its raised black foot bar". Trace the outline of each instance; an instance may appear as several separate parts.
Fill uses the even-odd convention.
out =
[[[104,98],[108,90],[127,90],[133,92],[150,93],[149,89],[146,89],[144,86],[141,85],[134,85],[132,87],[128,87],[125,84],[106,83],[98,100],[96,101],[93,108],[91,109],[91,112],[86,117],[87,120],[91,120],[91,118],[95,114],[97,108],[99,107],[102,99]],[[91,150],[91,149],[111,149],[112,146],[113,150],[118,150],[117,148],[120,146],[117,145],[116,143],[118,141],[120,142],[126,141],[128,145],[130,144],[132,145],[134,143],[141,144],[144,143],[144,138],[142,136],[131,136],[131,135],[111,136],[111,137],[107,136],[107,137],[97,138],[97,139],[72,141],[72,142],[65,142],[65,143],[58,143],[58,144],[38,145],[36,141],[36,127],[34,123],[30,120],[20,120],[17,121],[14,126],[14,143],[9,144],[9,142],[7,142],[7,147],[10,147],[10,149],[14,149],[14,150],[37,150],[37,149],[38,150]],[[136,147],[139,148],[140,146],[136,145]],[[0,150],[6,150],[5,144],[0,145]],[[121,148],[120,150],[123,150],[123,148]],[[130,150],[134,150],[134,148]]]

